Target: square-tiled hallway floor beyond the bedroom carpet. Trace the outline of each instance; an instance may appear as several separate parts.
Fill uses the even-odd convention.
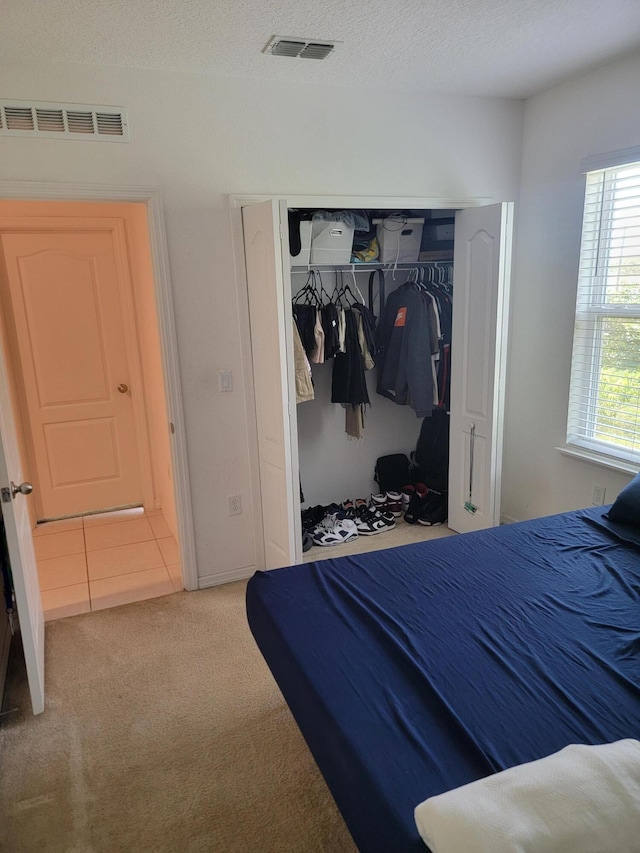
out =
[[[162,510],[50,521],[33,542],[47,621],[182,589],[178,543]]]

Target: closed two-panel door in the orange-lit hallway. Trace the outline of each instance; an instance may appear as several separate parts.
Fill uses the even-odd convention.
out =
[[[49,222],[0,234],[38,520],[144,495],[117,234],[107,218]]]

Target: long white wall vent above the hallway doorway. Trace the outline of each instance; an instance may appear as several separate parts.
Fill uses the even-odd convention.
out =
[[[129,142],[122,107],[0,99],[0,136]]]

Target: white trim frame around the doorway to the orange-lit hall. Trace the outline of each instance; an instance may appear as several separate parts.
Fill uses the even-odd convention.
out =
[[[196,590],[196,565],[193,510],[182,405],[182,386],[178,345],[169,272],[169,250],[164,221],[162,191],[159,187],[88,183],[55,184],[45,181],[0,181],[0,199],[21,201],[90,201],[141,203],[147,209],[149,248],[153,267],[158,333],[162,355],[167,418],[170,432],[173,488],[178,522],[182,579],[187,590]],[[0,358],[3,358],[0,353]],[[169,429],[171,430],[171,426]]]

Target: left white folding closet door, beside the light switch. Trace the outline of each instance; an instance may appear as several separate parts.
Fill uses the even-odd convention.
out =
[[[301,551],[299,485],[293,476],[295,402],[289,396],[295,387],[293,339],[285,312],[290,298],[283,258],[286,212],[286,202],[277,201],[242,208],[267,569],[298,562]]]

